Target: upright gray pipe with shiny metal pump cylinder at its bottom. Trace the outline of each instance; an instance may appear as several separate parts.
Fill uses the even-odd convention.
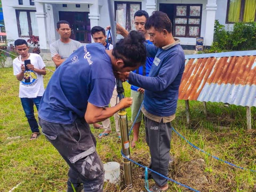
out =
[[[113,12],[113,1],[108,0],[108,12],[110,18],[111,34],[113,46],[116,45],[116,25],[114,20]],[[121,80],[116,81],[116,90],[118,93],[119,99],[124,98],[124,88]],[[122,152],[123,154],[130,158],[130,142],[128,135],[128,122],[127,122],[127,112],[125,109],[121,109],[118,112],[119,115],[119,126],[121,131],[121,140],[122,140]],[[131,162],[123,157],[123,166],[124,166],[124,184],[127,188],[132,188],[132,166]]]

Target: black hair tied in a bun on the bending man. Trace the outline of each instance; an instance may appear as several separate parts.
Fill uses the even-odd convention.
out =
[[[144,46],[145,37],[138,31],[131,31],[116,43],[112,54],[116,59],[124,61],[124,67],[136,67],[145,64],[146,48]]]

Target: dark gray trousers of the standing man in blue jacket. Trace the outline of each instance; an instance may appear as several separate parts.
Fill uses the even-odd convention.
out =
[[[169,157],[172,139],[171,122],[158,123],[145,117],[146,142],[149,146],[151,163],[149,168],[168,177]],[[158,186],[167,184],[167,179],[151,172]]]

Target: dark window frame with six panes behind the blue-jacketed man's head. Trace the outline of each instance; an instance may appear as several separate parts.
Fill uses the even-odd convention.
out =
[[[186,12],[186,16],[177,16],[177,6],[187,6],[187,12]],[[190,6],[200,6],[200,16],[190,16]],[[203,5],[202,4],[174,4],[174,21],[173,21],[173,35],[174,37],[183,37],[183,38],[196,38],[196,37],[200,37],[201,36],[201,26],[202,26],[202,10]],[[176,18],[187,18],[189,19],[200,19],[200,24],[188,24],[188,20],[187,20],[187,24],[176,24],[175,23],[175,19]],[[176,35],[176,26],[185,26],[186,27],[186,35],[185,36],[180,36],[180,35]],[[198,36],[190,36],[189,35],[189,27],[190,26],[197,26],[199,27],[199,33]]]

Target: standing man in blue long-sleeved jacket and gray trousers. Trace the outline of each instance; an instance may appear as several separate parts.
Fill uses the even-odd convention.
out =
[[[155,11],[145,24],[150,42],[145,44],[147,54],[154,57],[150,73],[141,76],[133,72],[118,73],[120,79],[145,89],[142,112],[145,115],[146,142],[150,149],[150,168],[168,177],[171,121],[175,118],[178,91],[185,67],[185,56],[180,40],[172,36],[172,23],[167,14]],[[128,32],[117,25],[117,32],[127,36]],[[167,179],[151,173],[156,185],[152,192],[168,190]]]

